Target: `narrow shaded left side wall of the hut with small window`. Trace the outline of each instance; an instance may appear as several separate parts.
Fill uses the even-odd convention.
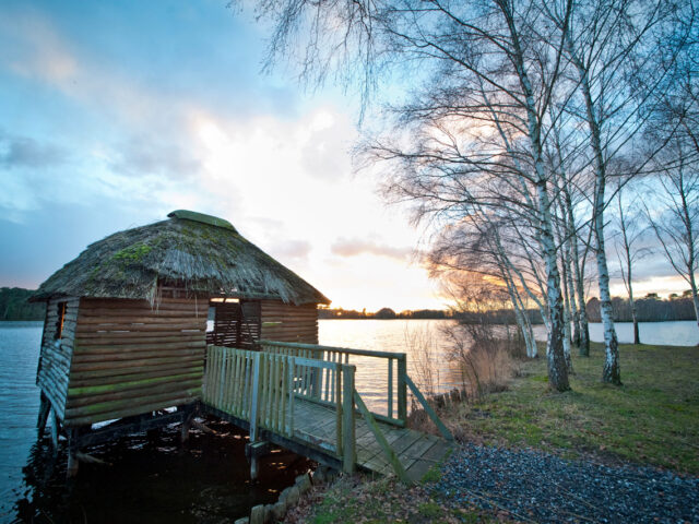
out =
[[[66,303],[60,340],[59,308]],[[75,321],[78,320],[78,298],[52,298],[46,305],[44,334],[42,335],[42,352],[36,372],[36,385],[48,397],[56,414],[63,418],[66,395],[68,392],[68,372],[73,354],[75,336]]]

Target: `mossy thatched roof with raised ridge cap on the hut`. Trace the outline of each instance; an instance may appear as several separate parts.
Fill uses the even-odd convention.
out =
[[[330,303],[318,289],[242,238],[230,223],[182,210],[168,216],[87,246],[42,284],[35,300],[78,296],[155,302],[159,283],[208,296]]]

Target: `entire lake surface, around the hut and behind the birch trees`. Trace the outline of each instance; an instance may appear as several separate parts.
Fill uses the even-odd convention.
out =
[[[324,345],[406,352],[408,373],[417,379],[418,359],[410,354],[410,340],[431,337],[430,358],[440,368],[439,389],[446,390],[459,384],[459,374],[443,358],[448,345],[440,327],[449,322],[322,320],[319,338]],[[545,336],[542,327],[537,334]],[[617,329],[621,342],[631,341],[630,324],[619,323]],[[699,343],[692,321],[641,323],[640,329],[647,344]],[[593,341],[602,340],[600,324],[591,324],[590,332]],[[64,455],[55,460],[46,440],[36,442],[40,335],[40,322],[0,322],[0,522],[221,522],[274,500],[308,468],[306,461],[282,452],[269,457],[260,468],[260,481],[251,483],[245,433],[211,421],[220,434],[192,431],[186,449],[178,443],[177,428],[170,428],[91,450],[112,465],[81,465],[78,479],[67,487]],[[352,364],[358,367],[357,389],[367,404],[381,410],[388,371],[371,360]]]

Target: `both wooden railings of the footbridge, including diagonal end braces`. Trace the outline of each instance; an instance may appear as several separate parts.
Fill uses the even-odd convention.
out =
[[[260,429],[320,446],[342,462],[345,472],[356,463],[355,416],[369,426],[384,455],[401,479],[405,471],[377,419],[399,426],[406,420],[410,389],[436,424],[441,434],[453,437],[405,371],[405,354],[368,352],[310,344],[260,341],[260,352],[209,346],[204,372],[203,401],[227,414],[249,422],[250,442],[259,440]],[[388,416],[370,412],[355,389],[356,367],[351,356],[375,357],[388,361]],[[392,416],[392,367],[396,367],[398,417]],[[298,419],[298,400],[321,404],[334,410],[334,439],[315,438],[313,421]],[[303,414],[299,414],[303,415]],[[310,424],[310,426],[309,426]]]

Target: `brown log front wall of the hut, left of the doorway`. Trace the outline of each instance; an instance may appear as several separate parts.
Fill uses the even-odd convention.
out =
[[[81,426],[201,396],[209,301],[82,298],[64,421]]]

